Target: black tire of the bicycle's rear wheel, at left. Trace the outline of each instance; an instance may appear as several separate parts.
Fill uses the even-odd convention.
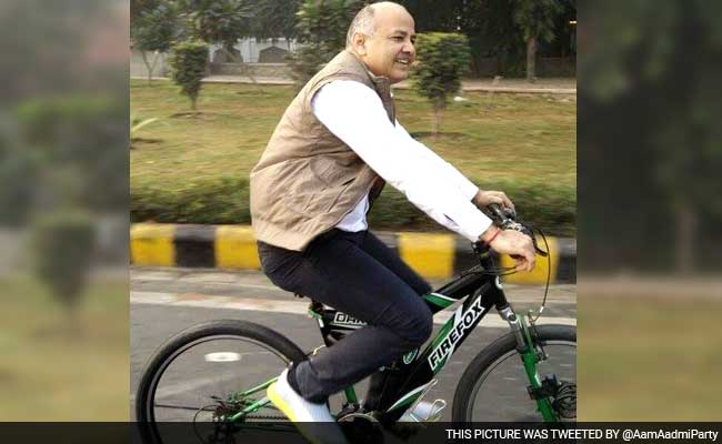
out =
[[[191,326],[181,331],[164,344],[162,344],[149,360],[146,365],[141,380],[138,384],[136,395],[136,421],[141,425],[140,432],[143,443],[159,443],[162,442],[153,433],[153,427],[149,424],[156,422],[153,413],[153,398],[158,383],[168,366],[179,355],[179,352],[189,346],[189,344],[198,343],[204,339],[212,337],[238,337],[242,340],[250,340],[254,343],[267,347],[269,351],[277,354],[287,363],[301,362],[307,359],[303,351],[282,334],[248,321],[239,320],[220,320],[210,321],[202,324]]]

